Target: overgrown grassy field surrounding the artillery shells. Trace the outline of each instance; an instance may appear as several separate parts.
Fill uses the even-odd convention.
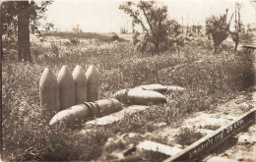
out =
[[[213,111],[217,105],[237,95],[250,94],[254,83],[252,53],[233,52],[233,44],[229,42],[219,53],[214,53],[212,40],[197,36],[180,49],[153,55],[136,51],[130,35],[122,35],[119,41],[114,41],[111,35],[42,33],[50,43],[32,39],[32,63],[18,62],[17,44],[3,42],[4,160],[95,160],[113,148],[129,144],[118,142],[105,146],[113,135],[146,135],[158,131],[159,123],[174,127],[193,112]],[[246,41],[250,36],[244,34],[243,37]],[[99,73],[99,98],[111,97],[119,89],[148,83],[179,85],[186,91],[169,94],[166,104],[127,115],[111,126],[49,128],[49,119],[41,116],[39,106],[38,86],[43,69],[50,66],[57,75],[63,65],[68,65],[71,71],[81,65],[86,71],[91,64]],[[78,134],[82,129],[92,131],[87,135]],[[184,131],[184,138],[191,134]],[[166,143],[160,138],[154,140]],[[139,138],[130,142],[137,141]],[[147,158],[154,160],[156,157]]]

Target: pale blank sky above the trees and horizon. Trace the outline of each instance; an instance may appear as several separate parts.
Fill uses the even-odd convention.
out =
[[[79,25],[85,32],[119,32],[120,27],[131,31],[131,19],[118,7],[121,0],[55,0],[46,12],[46,22],[53,23],[61,30],[72,30]],[[168,17],[183,25],[205,25],[207,17],[234,12],[234,0],[160,0],[166,5]],[[243,24],[256,23],[256,8],[249,0],[242,2]]]

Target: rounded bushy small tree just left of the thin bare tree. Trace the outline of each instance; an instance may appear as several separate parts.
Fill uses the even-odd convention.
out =
[[[215,52],[217,52],[219,46],[228,35],[232,16],[230,21],[226,22],[227,13],[228,10],[226,9],[224,15],[220,17],[212,16],[206,19],[206,34],[213,37]]]

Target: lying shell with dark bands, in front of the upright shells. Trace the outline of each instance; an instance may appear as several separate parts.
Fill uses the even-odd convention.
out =
[[[60,111],[52,117],[49,125],[53,126],[59,123],[72,125],[87,120],[90,117],[99,117],[113,113],[121,108],[121,103],[114,98],[101,99],[96,102],[85,102]]]

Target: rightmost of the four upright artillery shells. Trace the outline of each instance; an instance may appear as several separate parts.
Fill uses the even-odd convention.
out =
[[[86,73],[87,77],[87,101],[93,102],[98,99],[98,74],[96,67],[91,65]]]

